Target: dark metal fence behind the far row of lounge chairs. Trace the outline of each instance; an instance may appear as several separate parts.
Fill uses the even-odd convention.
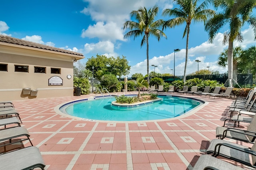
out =
[[[153,77],[150,77],[150,79]],[[160,77],[164,82],[171,83],[174,81],[173,76]],[[199,78],[202,80],[217,80],[220,83],[225,83],[228,80],[228,74],[204,74],[204,75],[192,75],[186,76],[186,80]],[[121,81],[124,81],[124,78],[120,78]],[[136,78],[128,77],[128,80],[136,80]],[[183,76],[175,76],[175,80],[183,80]],[[252,85],[252,74],[238,74],[236,82],[239,85]]]

